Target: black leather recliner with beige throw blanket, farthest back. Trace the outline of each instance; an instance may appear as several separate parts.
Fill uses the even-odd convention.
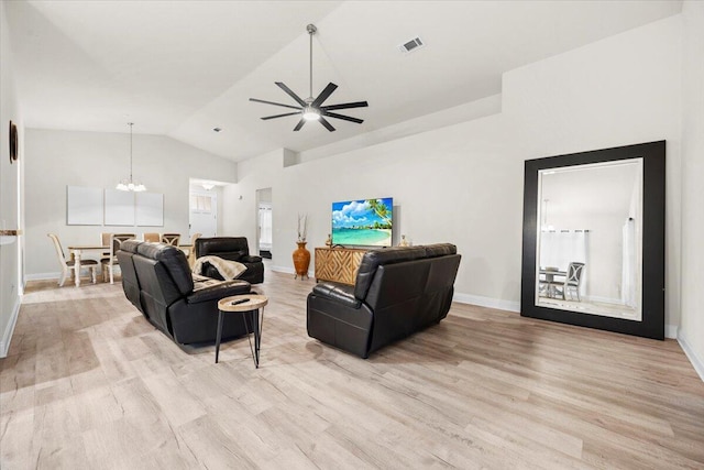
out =
[[[264,263],[261,256],[250,255],[250,247],[245,237],[212,237],[196,240],[196,259],[200,256],[220,256],[223,260],[237,261],[246,266],[239,277],[250,284],[264,282]],[[202,275],[216,280],[222,276],[210,263],[202,266]]]

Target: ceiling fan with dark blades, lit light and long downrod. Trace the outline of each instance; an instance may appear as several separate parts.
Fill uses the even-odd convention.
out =
[[[352,118],[350,116],[342,116],[331,111],[336,111],[338,109],[365,108],[369,106],[366,101],[355,101],[355,102],[344,102],[341,105],[321,106],[324,102],[324,100],[328,99],[328,97],[330,97],[332,91],[334,91],[336,88],[338,88],[336,84],[329,83],[328,86],[320,92],[320,95],[318,95],[316,98],[312,97],[312,35],[316,34],[316,31],[318,31],[318,29],[314,24],[309,24],[306,26],[306,31],[308,31],[308,34],[310,35],[310,95],[308,96],[308,98],[301,99],[298,95],[292,91],[292,89],[288,88],[286,85],[284,85],[282,81],[275,81],[276,86],[283,89],[288,96],[290,96],[298,103],[298,106],[284,105],[282,102],[266,101],[266,100],[256,99],[256,98],[250,98],[250,101],[256,101],[256,102],[263,102],[266,105],[282,106],[284,108],[296,109],[295,112],[266,116],[262,118],[262,120],[266,121],[268,119],[284,118],[286,116],[299,114],[300,121],[298,121],[298,124],[296,124],[296,127],[294,128],[294,131],[299,131],[300,128],[304,127],[306,121],[319,121],[330,132],[334,131],[334,128],[332,127],[332,124],[330,124],[330,122],[328,122],[326,118],[342,119],[344,121],[356,122],[358,124],[361,124],[362,122],[364,122],[362,119]]]

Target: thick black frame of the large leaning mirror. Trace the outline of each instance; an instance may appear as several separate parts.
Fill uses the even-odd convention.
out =
[[[642,320],[575,313],[536,305],[538,172],[548,168],[642,157]],[[666,141],[527,160],[524,185],[524,243],[520,315],[626,335],[664,339]]]

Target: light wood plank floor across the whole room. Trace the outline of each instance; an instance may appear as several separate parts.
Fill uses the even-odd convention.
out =
[[[312,281],[266,278],[258,370],[244,338],[219,364],[182,350],[119,283],[30,285],[0,467],[704,468],[704,383],[675,341],[454,304],[362,360],[306,335]]]

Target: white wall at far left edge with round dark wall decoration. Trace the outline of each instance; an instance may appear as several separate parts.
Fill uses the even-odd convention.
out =
[[[24,127],[18,92],[14,87],[10,32],[4,2],[0,3],[0,230],[21,229],[22,217],[19,208],[20,179],[24,163]],[[10,164],[8,145],[9,122],[18,125],[18,162]],[[12,243],[0,244],[0,358],[4,358],[10,347],[10,338],[20,311],[20,282],[22,237]]]

